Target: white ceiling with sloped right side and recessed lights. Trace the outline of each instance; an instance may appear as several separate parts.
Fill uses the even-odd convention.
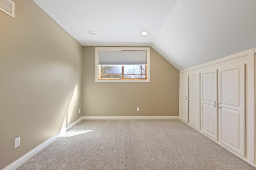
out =
[[[179,70],[256,47],[256,0],[34,2],[82,45],[151,46]]]

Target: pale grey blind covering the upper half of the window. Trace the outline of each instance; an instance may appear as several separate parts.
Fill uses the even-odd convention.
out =
[[[147,51],[98,51],[99,65],[145,65],[147,64]]]

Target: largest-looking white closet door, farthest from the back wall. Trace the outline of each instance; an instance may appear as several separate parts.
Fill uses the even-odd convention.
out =
[[[245,66],[218,71],[218,107],[220,142],[245,156]]]

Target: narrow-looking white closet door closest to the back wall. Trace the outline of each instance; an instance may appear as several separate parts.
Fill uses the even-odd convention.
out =
[[[188,75],[180,77],[180,119],[188,123]]]

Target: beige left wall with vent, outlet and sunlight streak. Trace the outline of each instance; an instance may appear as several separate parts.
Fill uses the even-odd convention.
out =
[[[34,1],[12,1],[15,18],[0,11],[0,169],[82,116],[82,46]]]

